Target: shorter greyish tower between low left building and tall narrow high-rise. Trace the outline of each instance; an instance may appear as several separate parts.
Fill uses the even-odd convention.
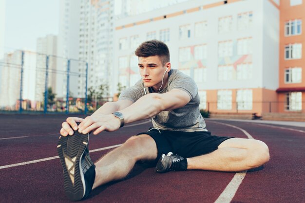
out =
[[[37,74],[36,74],[36,92],[35,100],[44,101],[43,92],[45,92],[46,81],[46,57],[48,55],[48,84],[53,91],[57,89],[57,36],[47,35],[37,39]]]

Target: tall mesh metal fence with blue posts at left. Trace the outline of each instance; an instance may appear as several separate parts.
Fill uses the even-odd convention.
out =
[[[84,113],[110,97],[88,102],[88,63],[15,50],[0,60],[0,111]]]

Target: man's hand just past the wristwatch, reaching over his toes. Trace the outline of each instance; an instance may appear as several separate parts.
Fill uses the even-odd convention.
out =
[[[98,114],[91,115],[85,118],[79,126],[78,132],[87,134],[92,130],[95,130],[93,134],[98,134],[101,131],[112,132],[120,128],[121,122],[113,114]]]

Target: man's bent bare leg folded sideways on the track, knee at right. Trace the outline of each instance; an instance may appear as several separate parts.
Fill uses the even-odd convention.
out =
[[[259,140],[231,138],[222,142],[217,150],[187,161],[188,169],[243,171],[269,161],[269,149]]]

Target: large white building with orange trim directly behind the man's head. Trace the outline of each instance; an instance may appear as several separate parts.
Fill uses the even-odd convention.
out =
[[[140,79],[134,50],[156,38],[169,46],[172,68],[197,83],[201,109],[261,115],[269,111],[266,101],[277,100],[276,5],[271,0],[191,0],[141,18],[121,18],[115,24],[114,83],[129,87]]]

